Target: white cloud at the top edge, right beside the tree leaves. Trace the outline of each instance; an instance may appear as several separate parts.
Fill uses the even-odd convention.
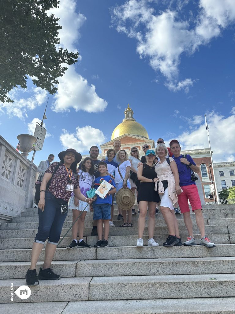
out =
[[[76,52],[76,43],[81,37],[79,29],[86,21],[86,17],[81,13],[76,13],[76,1],[66,0],[60,1],[58,8],[53,8],[47,11],[48,15],[55,14],[55,17],[60,18],[58,22],[62,26],[59,30],[60,44],[59,46],[69,51]]]

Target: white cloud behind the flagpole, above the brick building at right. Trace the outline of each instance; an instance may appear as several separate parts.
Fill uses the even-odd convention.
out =
[[[197,121],[195,116],[193,118],[188,118],[188,121],[199,122],[199,120]],[[232,159],[232,156],[235,155],[235,141],[232,140],[231,134],[235,134],[235,114],[224,117],[219,113],[211,112],[206,115],[206,120],[209,126],[211,149],[214,151],[213,161],[234,161],[235,159]],[[194,128],[193,131],[184,131],[176,138],[179,140],[183,150],[209,147],[205,120],[203,117],[200,126]],[[170,140],[171,139],[173,139],[173,137],[170,137]]]

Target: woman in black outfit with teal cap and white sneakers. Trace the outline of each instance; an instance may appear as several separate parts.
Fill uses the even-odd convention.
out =
[[[145,217],[149,214],[148,230],[149,240],[148,246],[159,246],[154,241],[154,229],[155,229],[155,209],[156,204],[160,202],[158,192],[154,190],[155,182],[157,181],[157,175],[154,171],[154,159],[156,158],[155,152],[152,149],[146,152],[147,162],[138,167],[138,179],[140,180],[137,202],[139,204],[139,218],[138,218],[138,240],[137,247],[144,246],[143,233],[145,227]],[[149,206],[149,208],[148,208]]]

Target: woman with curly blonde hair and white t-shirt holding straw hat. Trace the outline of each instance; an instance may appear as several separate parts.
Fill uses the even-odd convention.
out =
[[[117,193],[118,191],[124,187],[124,188],[131,188],[130,181],[128,180],[130,169],[131,169],[131,163],[130,160],[128,160],[127,152],[123,149],[120,149],[117,153],[117,162],[119,163],[118,167],[115,169],[115,183],[116,183],[116,189]],[[122,208],[119,208],[122,210]],[[128,210],[122,210],[123,214],[123,220],[124,223],[121,225],[121,227],[132,227],[131,223],[131,208]],[[128,214],[128,221],[127,221],[127,215]]]

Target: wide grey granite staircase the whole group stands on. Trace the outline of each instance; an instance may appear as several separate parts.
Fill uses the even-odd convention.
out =
[[[0,303],[3,313],[63,314],[235,314],[235,206],[204,205],[206,236],[217,246],[162,246],[168,233],[161,214],[156,215],[154,239],[159,247],[136,248],[138,215],[133,227],[110,228],[108,248],[68,250],[71,231],[56,250],[52,268],[58,281],[39,281],[30,286],[31,295],[21,300],[13,295],[26,285],[31,247],[37,232],[36,208],[27,208],[18,218],[0,225]],[[230,206],[230,208],[228,208]],[[195,238],[200,235],[191,214]],[[182,241],[187,238],[183,215],[177,215]],[[71,226],[72,213],[65,220],[62,236]],[[86,216],[84,240],[91,237],[92,215]],[[144,234],[147,235],[147,221]],[[147,245],[148,236],[144,236]],[[37,264],[43,264],[44,250]],[[40,302],[40,303],[39,303]]]

